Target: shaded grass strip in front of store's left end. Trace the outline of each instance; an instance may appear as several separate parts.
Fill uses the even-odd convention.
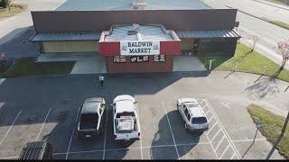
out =
[[[14,77],[70,74],[73,65],[73,61],[36,63],[35,58],[20,58],[5,74],[2,74],[2,76]]]

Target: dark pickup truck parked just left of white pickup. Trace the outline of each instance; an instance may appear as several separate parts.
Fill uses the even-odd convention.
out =
[[[89,139],[102,134],[105,109],[105,99],[100,97],[89,98],[82,104],[78,123],[79,139]]]

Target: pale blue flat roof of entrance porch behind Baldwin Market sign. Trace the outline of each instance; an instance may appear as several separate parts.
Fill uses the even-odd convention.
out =
[[[120,40],[173,40],[172,35],[165,33],[161,25],[139,25],[137,34],[128,35],[128,31],[135,31],[133,25],[114,26],[105,41]]]

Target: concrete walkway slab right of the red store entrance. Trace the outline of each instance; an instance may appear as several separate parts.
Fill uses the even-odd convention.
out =
[[[199,58],[191,56],[176,56],[173,58],[172,71],[207,71]]]

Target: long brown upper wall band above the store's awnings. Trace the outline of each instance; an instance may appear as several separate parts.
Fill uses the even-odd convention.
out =
[[[114,24],[131,23],[162,23],[172,30],[226,30],[234,28],[236,14],[236,9],[32,12],[36,32],[107,31]]]

